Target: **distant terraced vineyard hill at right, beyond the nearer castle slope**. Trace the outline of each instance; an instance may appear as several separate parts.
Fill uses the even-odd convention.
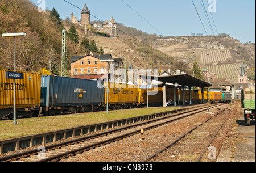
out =
[[[249,69],[255,68],[255,44],[242,44],[232,37],[164,37],[151,44],[176,61],[196,61],[201,70],[214,72],[217,78],[238,78],[242,61],[247,64],[247,74],[253,75]]]

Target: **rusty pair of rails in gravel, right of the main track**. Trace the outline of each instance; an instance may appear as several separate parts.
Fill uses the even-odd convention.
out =
[[[230,106],[229,106],[230,107]],[[181,139],[185,138],[186,136],[188,136],[188,134],[192,133],[194,130],[196,130],[197,128],[199,128],[200,126],[202,126],[203,124],[207,123],[209,120],[214,119],[214,117],[217,117],[218,115],[221,115],[224,111],[228,110],[229,113],[232,112],[228,107],[225,107],[224,109],[220,110],[218,113],[216,113],[214,116],[210,117],[209,119],[205,120],[203,123],[193,127],[192,129],[188,130],[187,132],[185,132],[182,136],[180,136],[179,138],[177,138],[175,141],[172,141],[169,145],[167,145],[166,147],[164,147],[163,149],[157,151],[155,154],[152,154],[150,157],[148,157],[147,159],[145,159],[144,162],[148,162],[148,161],[153,161],[153,159],[158,158],[158,156],[161,153],[164,153],[167,149],[169,149],[170,147],[174,146],[177,142],[179,142]],[[204,149],[201,151],[199,157],[197,157],[196,162],[200,162],[203,155],[205,154],[205,152],[209,149],[210,144],[212,144],[214,138],[217,136],[218,132],[220,131],[220,129],[222,128],[222,126],[226,123],[226,120],[228,120],[230,116],[227,116],[224,120],[224,122],[217,128],[216,132],[214,133],[213,137],[210,139],[210,141],[207,143],[207,145],[205,145]]]

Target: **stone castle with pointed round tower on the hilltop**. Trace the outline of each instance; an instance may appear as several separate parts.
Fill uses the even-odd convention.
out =
[[[86,6],[86,3],[84,5],[84,9],[81,10],[81,21],[78,21],[76,16],[72,12],[71,22],[73,24],[83,26],[85,28],[85,35],[87,36],[89,34],[89,31],[108,33],[110,36],[118,36],[117,22],[115,22],[113,17],[111,20],[102,22],[100,24],[90,23],[90,10]]]

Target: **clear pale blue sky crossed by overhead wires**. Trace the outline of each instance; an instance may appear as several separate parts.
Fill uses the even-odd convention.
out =
[[[91,14],[101,20],[110,20],[113,16],[117,23],[123,23],[127,27],[134,27],[147,33],[156,33],[163,36],[191,36],[192,33],[203,33],[203,35],[228,33],[242,43],[249,41],[255,43],[254,0],[201,0],[204,2],[214,33],[209,27],[200,0],[193,0],[193,2],[203,24],[200,22],[192,0],[67,0],[80,7],[80,9],[64,0],[30,1],[37,6],[42,6],[45,2],[45,6],[49,10],[54,7],[59,12],[60,18],[64,20],[67,17],[71,18],[72,12],[80,20],[80,9],[86,3]],[[209,10],[212,12],[209,12]],[[98,19],[91,16],[90,20]]]

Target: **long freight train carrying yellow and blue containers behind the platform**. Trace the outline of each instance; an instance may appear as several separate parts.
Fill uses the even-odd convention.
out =
[[[5,71],[0,69],[0,119],[13,119],[13,79],[5,78]],[[16,80],[16,117],[28,118],[38,115],[62,115],[65,112],[82,113],[104,111],[107,103],[106,83],[87,79],[57,77],[23,73],[24,79]],[[144,107],[147,104],[147,90],[139,86],[108,83],[109,108],[127,109]],[[105,86],[105,87],[104,87]],[[153,89],[148,90],[152,92]],[[183,90],[176,89],[176,100],[183,100]],[[180,98],[179,96],[180,95]],[[185,90],[185,100],[189,100]],[[223,97],[224,95],[224,97]],[[226,96],[225,96],[226,95]],[[204,92],[207,102],[208,93]],[[213,102],[229,102],[230,94],[216,92],[211,94]],[[174,100],[174,88],[166,88],[167,100]],[[201,103],[201,91],[192,91],[192,103]],[[148,95],[149,106],[163,105],[163,88],[158,87],[156,95]]]

